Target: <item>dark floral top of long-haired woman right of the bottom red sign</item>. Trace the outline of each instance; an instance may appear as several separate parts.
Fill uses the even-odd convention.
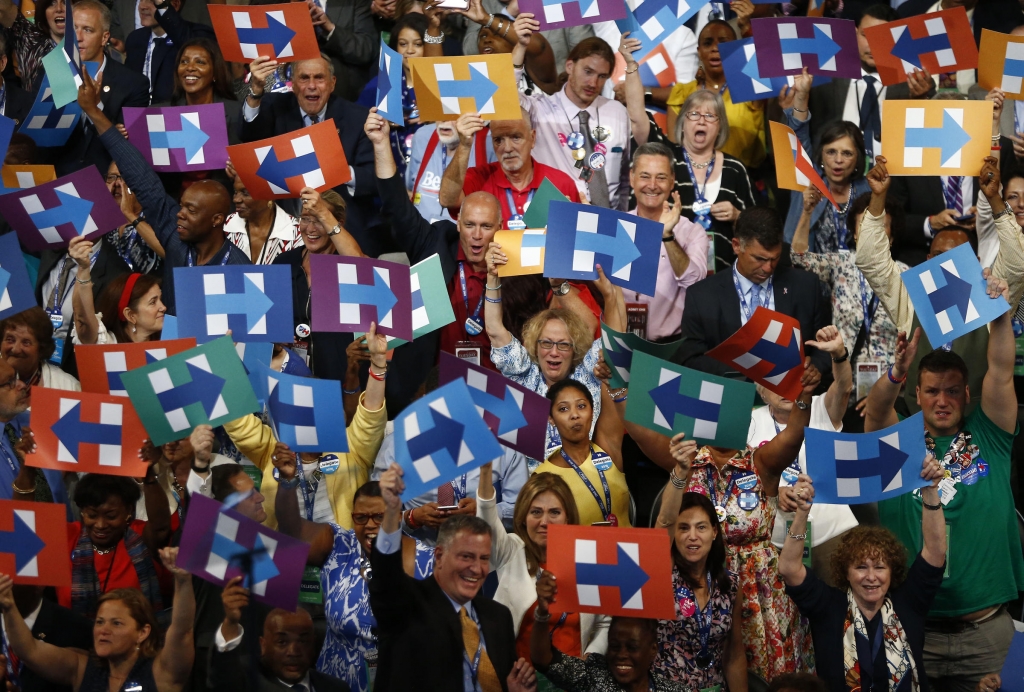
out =
[[[676,594],[676,619],[657,621],[657,658],[654,659],[654,669],[686,685],[687,689],[702,690],[715,685],[725,685],[725,651],[729,645],[732,630],[732,604],[736,601],[739,590],[739,575],[726,572],[729,577],[729,591],[719,589],[717,581],[712,581],[711,598],[708,606],[711,608],[711,635],[708,637],[708,649],[711,653],[711,665],[701,671],[697,667],[695,658],[700,651],[700,628],[696,613],[683,617],[680,610],[683,578],[679,568],[672,568],[672,589]],[[738,623],[737,623],[738,626]]]

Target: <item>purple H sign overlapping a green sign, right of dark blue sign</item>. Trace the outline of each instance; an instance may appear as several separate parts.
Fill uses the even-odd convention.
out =
[[[309,256],[313,332],[377,332],[413,340],[413,289],[404,264]]]

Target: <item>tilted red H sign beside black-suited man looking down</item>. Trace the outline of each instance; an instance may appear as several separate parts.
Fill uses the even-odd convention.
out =
[[[708,351],[768,391],[796,401],[803,387],[804,340],[800,322],[781,312],[758,307],[739,331]]]

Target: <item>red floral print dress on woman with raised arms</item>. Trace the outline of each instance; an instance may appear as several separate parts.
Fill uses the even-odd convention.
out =
[[[708,495],[716,506],[725,498],[726,567],[739,577],[746,668],[771,682],[784,673],[813,672],[814,653],[810,626],[778,573],[778,550],[771,544],[778,499],[765,495],[754,453],[748,447],[720,471],[711,450],[701,447],[686,490]],[[742,492],[757,496],[749,511],[739,506]]]

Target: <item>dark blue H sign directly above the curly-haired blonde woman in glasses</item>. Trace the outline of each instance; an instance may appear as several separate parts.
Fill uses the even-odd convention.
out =
[[[548,208],[544,275],[597,278],[600,264],[612,284],[654,295],[663,225],[613,209],[552,202]]]

